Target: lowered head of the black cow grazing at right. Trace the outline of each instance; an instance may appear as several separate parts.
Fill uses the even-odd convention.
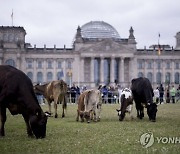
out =
[[[157,105],[155,103],[151,103],[147,105],[147,114],[149,116],[149,120],[152,122],[156,121],[156,113],[157,113]]]

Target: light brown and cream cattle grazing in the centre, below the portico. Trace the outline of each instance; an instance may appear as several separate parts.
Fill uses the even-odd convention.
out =
[[[78,99],[77,118],[79,116],[81,121],[84,122],[84,118],[89,123],[90,120],[99,121],[101,112],[101,95],[99,90],[86,90]]]

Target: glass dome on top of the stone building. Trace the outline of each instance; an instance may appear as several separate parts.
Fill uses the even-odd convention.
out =
[[[81,27],[81,35],[83,38],[114,38],[120,39],[116,29],[104,21],[91,21]]]

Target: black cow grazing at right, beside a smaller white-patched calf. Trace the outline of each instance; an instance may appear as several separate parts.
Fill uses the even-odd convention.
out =
[[[131,81],[131,90],[133,98],[136,103],[137,117],[142,119],[144,117],[144,106],[147,107],[147,114],[149,120],[156,121],[157,105],[153,103],[153,89],[150,81],[147,78],[136,78]]]

